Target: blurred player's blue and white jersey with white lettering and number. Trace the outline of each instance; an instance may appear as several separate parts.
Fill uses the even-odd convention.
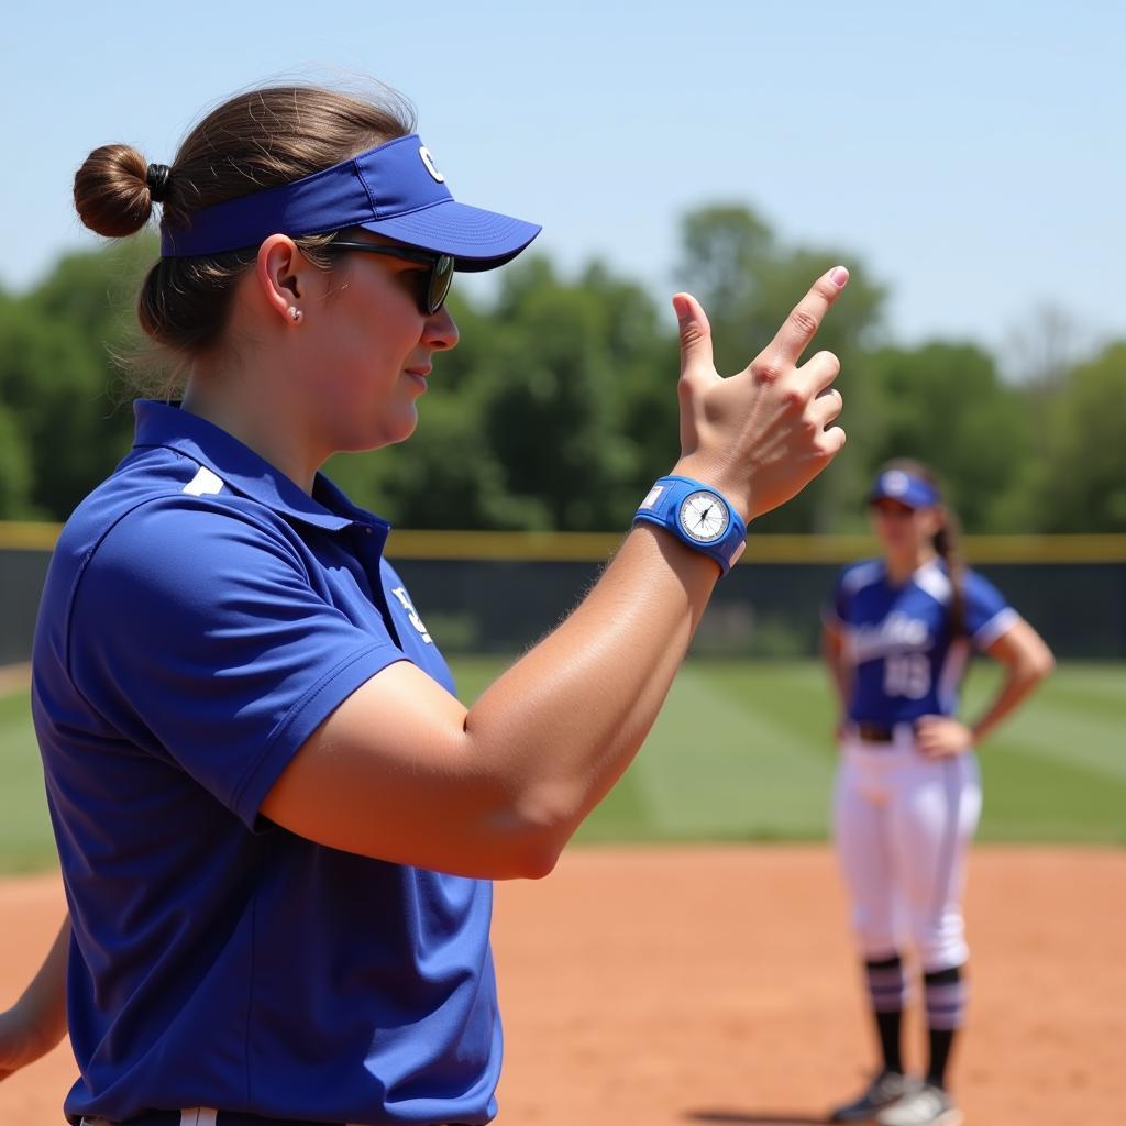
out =
[[[972,649],[988,649],[1017,613],[992,583],[965,571],[964,633],[950,626],[953,593],[946,566],[935,560],[901,587],[883,560],[846,568],[826,617],[844,640],[854,668],[849,718],[891,726],[923,715],[955,715]]]

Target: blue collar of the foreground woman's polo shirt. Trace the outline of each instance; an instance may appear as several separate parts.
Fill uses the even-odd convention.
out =
[[[378,528],[384,536],[391,530],[386,520],[357,508],[323,474],[316,474],[314,495],[310,497],[249,446],[198,414],[180,410],[177,403],[140,399],[133,404],[133,413],[134,449],[175,449],[207,466],[234,492],[303,524],[331,531],[360,524]]]

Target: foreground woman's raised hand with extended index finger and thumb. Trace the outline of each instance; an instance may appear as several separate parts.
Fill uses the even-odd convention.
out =
[[[844,445],[844,431],[830,426],[842,406],[832,386],[840,361],[828,351],[798,360],[847,284],[842,266],[817,278],[774,340],[727,378],[715,369],[699,302],[686,293],[672,298],[680,322],[676,472],[715,485],[748,520],[801,492]]]

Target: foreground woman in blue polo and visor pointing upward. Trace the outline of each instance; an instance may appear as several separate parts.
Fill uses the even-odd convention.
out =
[[[184,390],[137,404],[133,452],[62,534],[36,637],[71,1121],[488,1121],[489,881],[552,869],[650,730],[744,521],[844,440],[835,358],[797,364],[843,268],[730,379],[678,295],[674,474],[466,711],[387,524],[319,473],[410,437],[457,342],[453,270],[538,231],[454,202],[411,129],[393,105],[265,89],[170,168],[110,145],[77,176],[101,234],[162,205],[138,315]],[[60,976],[45,965],[6,1017],[0,1067],[61,1035]]]

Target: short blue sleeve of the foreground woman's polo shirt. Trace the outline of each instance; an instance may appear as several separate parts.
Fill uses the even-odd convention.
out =
[[[282,529],[209,498],[162,498],[105,536],[68,627],[75,688],[253,828],[316,726],[403,654],[315,589]]]

